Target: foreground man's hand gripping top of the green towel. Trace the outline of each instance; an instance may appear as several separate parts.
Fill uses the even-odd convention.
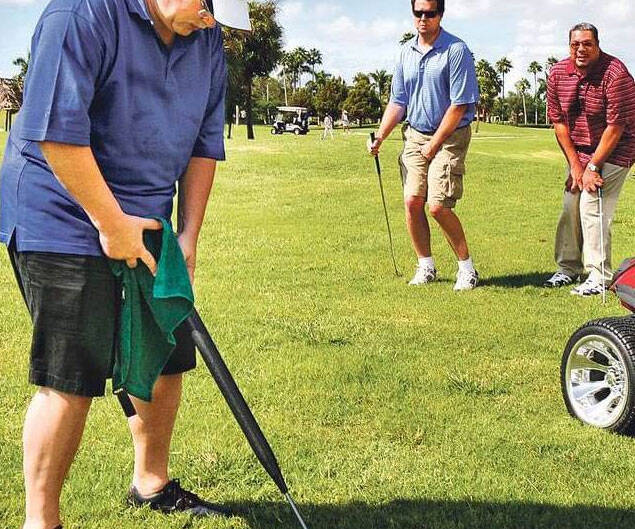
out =
[[[137,266],[141,259],[150,269],[152,275],[157,273],[157,263],[143,244],[145,230],[160,230],[162,224],[158,220],[144,219],[133,215],[123,216],[116,222],[109,223],[99,231],[99,242],[106,257],[117,261],[126,261],[130,268]]]

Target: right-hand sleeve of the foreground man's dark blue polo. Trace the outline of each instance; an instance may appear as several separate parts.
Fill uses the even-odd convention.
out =
[[[227,88],[227,64],[223,50],[223,36],[217,27],[212,44],[212,80],[205,117],[194,144],[192,156],[225,159],[225,92]]]

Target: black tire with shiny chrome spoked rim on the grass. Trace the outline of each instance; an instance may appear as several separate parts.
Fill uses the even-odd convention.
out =
[[[635,434],[635,317],[590,321],[569,339],[560,368],[569,413],[586,424]]]

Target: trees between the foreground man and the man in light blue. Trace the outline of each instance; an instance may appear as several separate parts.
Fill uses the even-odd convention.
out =
[[[254,138],[253,124],[270,123],[279,106],[305,107],[318,119],[327,114],[338,119],[346,110],[349,119],[360,125],[381,116],[389,98],[390,74],[385,70],[359,73],[348,85],[341,77],[317,69],[323,63],[320,50],[283,49],[274,0],[250,2],[249,10],[251,33],[224,29],[230,136],[236,107],[245,110],[249,139]]]

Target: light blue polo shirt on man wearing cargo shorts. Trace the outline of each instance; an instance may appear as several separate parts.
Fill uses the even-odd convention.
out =
[[[468,105],[459,127],[468,125],[478,100],[474,58],[461,39],[441,29],[427,51],[419,46],[418,35],[402,46],[390,101],[408,108],[406,119],[415,129],[438,129],[450,105]]]

